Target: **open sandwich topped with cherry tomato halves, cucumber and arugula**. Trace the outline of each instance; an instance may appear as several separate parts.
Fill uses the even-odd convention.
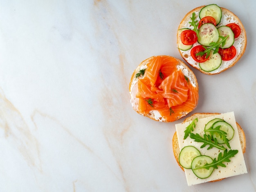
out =
[[[204,74],[219,74],[243,56],[246,31],[239,18],[216,4],[191,10],[180,22],[177,47],[192,67]]]

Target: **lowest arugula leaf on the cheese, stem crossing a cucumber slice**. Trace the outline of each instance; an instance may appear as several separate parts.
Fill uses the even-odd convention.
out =
[[[201,167],[197,167],[194,170],[197,169],[207,169],[209,170],[210,167],[213,167],[215,169],[218,169],[218,166],[220,167],[226,167],[225,164],[223,164],[223,162],[230,162],[230,158],[234,157],[236,154],[238,153],[238,150],[229,150],[227,151],[227,149],[222,153],[220,152],[218,155],[218,159],[214,158],[212,163],[206,163],[205,165],[201,166]]]

